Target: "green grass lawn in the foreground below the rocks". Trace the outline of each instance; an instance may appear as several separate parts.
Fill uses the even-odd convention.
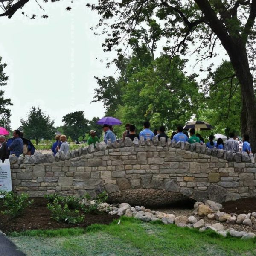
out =
[[[207,231],[121,218],[83,229],[27,231],[9,238],[27,256],[235,256],[256,255],[256,239],[224,238]]]

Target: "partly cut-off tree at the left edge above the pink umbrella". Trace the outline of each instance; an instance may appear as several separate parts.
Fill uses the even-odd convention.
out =
[[[4,73],[4,69],[7,67],[7,64],[1,64],[2,57],[0,57],[0,86],[5,86],[7,84],[8,76]],[[11,99],[4,99],[4,91],[0,90],[0,126],[11,130],[10,127],[10,116],[11,111],[7,106],[12,106]]]

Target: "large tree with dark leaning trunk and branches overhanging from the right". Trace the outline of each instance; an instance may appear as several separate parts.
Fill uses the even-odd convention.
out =
[[[252,151],[256,152],[256,0],[100,0],[87,6],[101,16],[97,27],[104,26],[107,35],[102,44],[105,51],[122,45],[125,35],[130,38],[135,28],[151,17],[164,20],[164,50],[171,57],[186,55],[190,49],[198,54],[198,61],[212,58],[215,46],[221,44],[241,88],[242,133],[250,135]]]

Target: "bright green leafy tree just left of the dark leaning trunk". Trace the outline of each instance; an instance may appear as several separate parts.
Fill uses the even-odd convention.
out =
[[[215,127],[215,131],[229,135],[230,131],[241,133],[241,90],[229,61],[224,61],[215,72],[204,79],[204,102],[196,117]]]

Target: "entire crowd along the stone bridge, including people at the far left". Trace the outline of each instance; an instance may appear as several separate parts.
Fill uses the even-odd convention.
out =
[[[104,141],[107,144],[108,140],[111,140],[111,143],[116,141],[116,136],[113,132],[113,126],[105,124],[103,125],[103,131],[104,131]],[[158,140],[160,138],[165,138],[166,142],[168,139],[168,135],[165,133],[165,127],[160,126],[158,130],[151,131],[150,130],[150,123],[144,122],[143,124],[143,130],[140,131],[139,134],[136,134],[136,127],[135,125],[126,124],[125,125],[125,131],[122,134],[122,140],[125,140],[125,137],[130,138],[132,141],[134,141],[135,138],[140,140],[141,137],[144,137],[144,140],[150,139],[152,140],[154,136],[158,137]],[[249,136],[247,134],[244,134],[243,136],[243,143],[239,144],[239,141],[237,141],[235,134],[230,133],[229,139],[225,140],[225,143],[221,138],[218,138],[217,141],[214,140],[214,136],[209,136],[209,142],[204,143],[204,138],[201,137],[200,134],[195,133],[195,129],[192,128],[189,130],[189,134],[187,131],[183,131],[182,126],[177,127],[177,131],[174,131],[170,137],[172,141],[175,141],[176,143],[179,141],[183,142],[189,142],[189,143],[200,143],[201,145],[206,145],[207,148],[217,148],[217,149],[224,149],[226,151],[232,151],[233,153],[243,151],[247,154],[251,153],[251,147],[249,143]],[[61,153],[64,152],[67,154],[69,151],[69,144],[67,143],[67,137],[65,135],[56,135],[55,137],[55,143],[52,145],[52,153],[55,156],[57,152]],[[94,144],[94,147],[96,145],[96,142],[99,142],[99,138],[96,136],[96,131],[91,130],[90,136],[88,138],[87,144]],[[0,159],[2,162],[4,162],[5,159],[9,158],[9,155],[15,155],[19,157],[21,154],[23,155],[33,155],[35,152],[35,147],[31,143],[30,140],[23,137],[23,133],[19,130],[13,131],[13,137],[8,139],[6,141],[6,137],[3,135],[0,135]]]

